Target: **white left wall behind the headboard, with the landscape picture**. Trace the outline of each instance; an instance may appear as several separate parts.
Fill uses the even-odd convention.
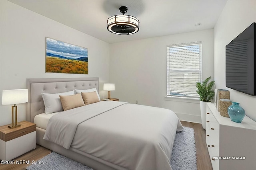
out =
[[[88,48],[88,74],[45,73],[45,37]],[[26,78],[99,77],[109,81],[109,44],[36,14],[0,1],[0,125],[11,123],[11,105],[2,105],[2,90],[26,88]],[[18,121],[26,119],[26,104],[18,104]]]

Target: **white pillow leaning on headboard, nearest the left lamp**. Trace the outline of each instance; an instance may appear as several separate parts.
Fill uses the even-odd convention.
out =
[[[70,96],[74,95],[74,90],[64,93],[41,93],[43,100],[44,100],[44,113],[45,114],[51,114],[57,111],[63,111],[62,104],[60,102],[60,95],[61,96]]]

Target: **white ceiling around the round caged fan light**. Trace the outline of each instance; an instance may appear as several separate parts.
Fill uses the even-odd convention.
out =
[[[227,0],[9,0],[78,31],[117,43],[150,37],[212,29]],[[140,20],[138,33],[110,33],[107,19],[121,14]],[[200,27],[196,27],[201,23]]]

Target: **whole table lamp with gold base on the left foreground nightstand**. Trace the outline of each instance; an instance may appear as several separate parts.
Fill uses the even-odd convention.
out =
[[[3,90],[2,94],[2,105],[12,105],[12,125],[8,126],[9,128],[19,127],[17,125],[17,106],[16,104],[26,103],[28,102],[28,89],[15,89],[15,90]],[[14,117],[13,110],[15,107],[15,125],[14,125]]]

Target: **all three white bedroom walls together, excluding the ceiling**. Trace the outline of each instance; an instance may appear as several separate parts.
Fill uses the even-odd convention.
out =
[[[255,0],[228,0],[214,31],[210,29],[109,45],[1,0],[0,103],[2,90],[26,88],[26,78],[99,77],[102,98],[107,95],[102,91],[102,84],[115,83],[116,90],[111,92],[113,98],[172,109],[180,119],[200,123],[197,100],[165,98],[166,45],[202,41],[203,79],[214,75],[216,88],[226,88],[225,46],[256,22],[255,9]],[[89,74],[45,73],[45,37],[88,48]],[[240,102],[246,114],[256,120],[256,96],[228,90],[231,99]],[[25,106],[18,105],[18,121],[25,119]],[[11,106],[0,104],[0,125],[11,122],[10,109]]]

